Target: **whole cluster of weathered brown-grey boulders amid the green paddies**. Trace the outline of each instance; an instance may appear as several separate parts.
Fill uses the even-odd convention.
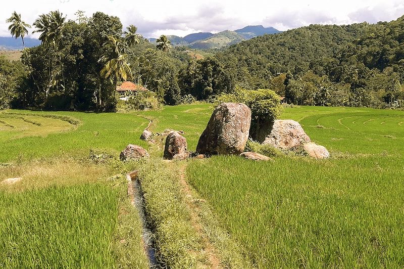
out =
[[[270,161],[271,158],[256,152],[244,152],[251,123],[251,110],[241,103],[223,103],[213,112],[208,125],[199,138],[194,155],[188,151],[183,131],[166,129],[158,136],[166,136],[164,159],[184,160],[190,157],[205,158],[211,155],[239,155],[245,159]],[[275,120],[271,126],[260,131],[264,145],[271,145],[280,150],[303,152],[317,159],[329,158],[326,148],[311,142],[300,124],[294,120]],[[262,135],[266,133],[266,135]],[[153,132],[145,129],[140,139],[153,142]],[[121,160],[148,158],[145,149],[136,145],[128,145],[121,153]]]

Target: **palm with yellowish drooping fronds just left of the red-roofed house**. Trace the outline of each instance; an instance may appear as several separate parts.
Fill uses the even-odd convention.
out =
[[[110,79],[115,85],[120,80],[128,80],[132,77],[132,70],[127,60],[127,44],[123,38],[108,36],[108,41],[103,44],[104,53],[99,58],[98,63],[104,65],[100,71],[100,76]],[[100,91],[100,90],[99,90]],[[102,100],[99,94],[99,105]]]

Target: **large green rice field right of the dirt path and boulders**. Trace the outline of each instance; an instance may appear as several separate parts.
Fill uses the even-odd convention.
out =
[[[187,168],[244,254],[260,268],[404,266],[404,113],[296,107],[282,118],[333,157],[217,156]]]

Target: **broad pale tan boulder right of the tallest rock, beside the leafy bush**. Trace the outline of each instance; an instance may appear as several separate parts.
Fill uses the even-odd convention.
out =
[[[311,142],[310,137],[306,135],[300,124],[297,121],[286,119],[275,120],[271,132],[262,144],[281,150],[290,150],[309,142]]]

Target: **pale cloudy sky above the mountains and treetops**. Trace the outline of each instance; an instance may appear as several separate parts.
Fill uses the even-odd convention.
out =
[[[5,21],[13,11],[29,24],[38,15],[52,10],[60,10],[72,20],[78,10],[88,17],[101,11],[118,16],[124,27],[134,24],[138,33],[147,38],[161,34],[216,33],[259,24],[285,31],[310,24],[376,23],[404,15],[402,0],[20,0],[7,1],[1,6],[0,36],[10,36]],[[37,36],[30,34],[30,37]]]

